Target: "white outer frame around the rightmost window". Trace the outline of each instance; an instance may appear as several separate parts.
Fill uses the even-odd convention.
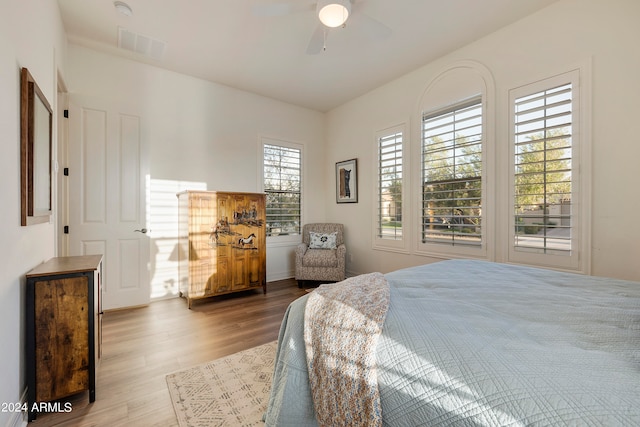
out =
[[[589,196],[591,159],[590,137],[587,132],[589,110],[585,101],[589,85],[588,70],[579,67],[567,72],[556,74],[529,84],[509,90],[509,201],[506,203],[509,218],[506,233],[507,261],[537,267],[554,268],[564,271],[589,274],[590,272],[590,236],[589,212],[591,200]],[[572,84],[572,113],[571,113],[571,254],[560,255],[544,253],[536,250],[523,250],[515,246],[516,238],[516,119],[515,101],[526,96],[557,88],[568,83]]]

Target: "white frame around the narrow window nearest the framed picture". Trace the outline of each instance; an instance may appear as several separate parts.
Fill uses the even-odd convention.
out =
[[[381,139],[394,135],[401,134],[402,135],[402,156],[401,156],[401,167],[402,167],[402,190],[401,190],[401,209],[402,209],[402,237],[399,239],[385,239],[379,236],[378,233],[378,224],[380,221],[380,141]],[[409,135],[409,127],[407,122],[402,122],[400,124],[390,126],[381,130],[378,130],[374,133],[374,155],[373,155],[373,171],[376,173],[375,184],[373,185],[373,197],[374,201],[373,206],[373,216],[372,216],[372,248],[375,250],[389,251],[389,252],[399,252],[399,253],[409,253],[409,236],[411,235],[412,230],[412,222],[411,222],[411,201],[408,197],[411,192],[409,191],[409,181],[410,181],[410,168],[411,164],[410,160],[410,135]]]

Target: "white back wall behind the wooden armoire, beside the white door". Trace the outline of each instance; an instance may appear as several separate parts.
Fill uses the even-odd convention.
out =
[[[260,140],[268,137],[304,147],[304,187],[318,197],[305,199],[303,220],[324,218],[324,114],[74,44],[67,86],[71,98],[81,93],[141,105],[150,135],[152,197],[160,191],[154,186],[164,183],[170,197],[163,200],[173,204],[165,203],[167,212],[177,214],[177,199],[168,194],[173,188],[261,191]],[[152,280],[162,285],[177,278],[175,263],[163,269],[177,229],[154,223],[157,204],[152,205],[147,212],[155,254]],[[291,244],[269,244],[267,280],[293,275],[292,254]]]

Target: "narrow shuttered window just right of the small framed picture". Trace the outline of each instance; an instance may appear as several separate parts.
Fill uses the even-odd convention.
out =
[[[403,248],[404,125],[377,132],[374,247]]]

